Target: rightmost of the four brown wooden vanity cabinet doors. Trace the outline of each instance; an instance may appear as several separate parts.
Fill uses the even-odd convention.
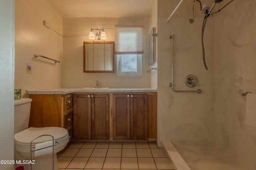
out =
[[[130,126],[132,140],[147,140],[148,96],[146,94],[130,95]]]

